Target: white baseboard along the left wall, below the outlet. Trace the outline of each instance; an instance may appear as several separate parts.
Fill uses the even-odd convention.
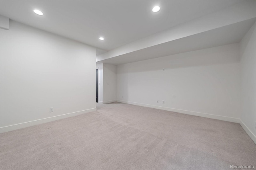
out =
[[[73,113],[66,113],[66,114],[63,114],[63,115],[58,115],[58,116],[53,116],[53,117],[46,117],[44,119],[38,119],[38,120],[28,121],[28,122],[24,122],[24,123],[18,123],[18,124],[15,124],[15,125],[9,125],[9,126],[5,126],[5,127],[0,127],[0,133],[13,131],[13,130],[21,129],[21,128],[24,128],[24,127],[39,125],[39,124],[42,124],[42,123],[47,123],[47,122],[50,122],[50,121],[63,119],[63,118],[66,118],[66,117],[81,115],[81,114],[84,114],[84,113],[89,113],[91,111],[96,111],[96,108],[76,111],[76,112],[73,112]]]

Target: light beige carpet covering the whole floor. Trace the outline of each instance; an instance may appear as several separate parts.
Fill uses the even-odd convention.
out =
[[[228,170],[256,166],[238,123],[121,103],[0,135],[1,170]]]

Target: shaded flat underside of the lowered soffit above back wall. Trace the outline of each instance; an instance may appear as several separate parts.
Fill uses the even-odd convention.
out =
[[[188,51],[238,43],[252,27],[255,21],[256,18],[252,18],[224,27],[212,29],[210,31],[176,39],[174,41],[154,45],[131,53],[126,53],[124,55],[119,55],[117,57],[112,57],[110,59],[99,61],[97,64],[108,63],[119,65],[178,53],[185,53]]]

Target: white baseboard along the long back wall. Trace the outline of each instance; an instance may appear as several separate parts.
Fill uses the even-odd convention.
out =
[[[230,121],[230,122],[234,122],[234,123],[240,123],[240,119],[234,118],[234,117],[212,115],[212,114],[208,114],[208,113],[200,113],[200,112],[195,112],[195,111],[174,109],[174,108],[170,108],[170,107],[154,106],[154,105],[141,104],[141,103],[136,103],[136,102],[128,102],[128,101],[124,101],[124,100],[117,100],[117,102],[126,103],[126,104],[132,104],[132,105],[137,105],[137,106],[150,107],[150,108],[154,108],[154,109],[162,109],[162,110],[167,110],[167,111],[174,111],[174,112],[184,113],[184,114],[188,114],[188,115],[207,117],[207,118],[211,118],[211,119]]]

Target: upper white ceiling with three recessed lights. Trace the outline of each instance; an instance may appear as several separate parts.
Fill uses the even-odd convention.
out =
[[[102,54],[241,1],[1,0],[0,14],[94,46]],[[160,6],[157,13],[154,6]],[[38,16],[33,10],[41,10]],[[100,41],[99,37],[105,38]]]

